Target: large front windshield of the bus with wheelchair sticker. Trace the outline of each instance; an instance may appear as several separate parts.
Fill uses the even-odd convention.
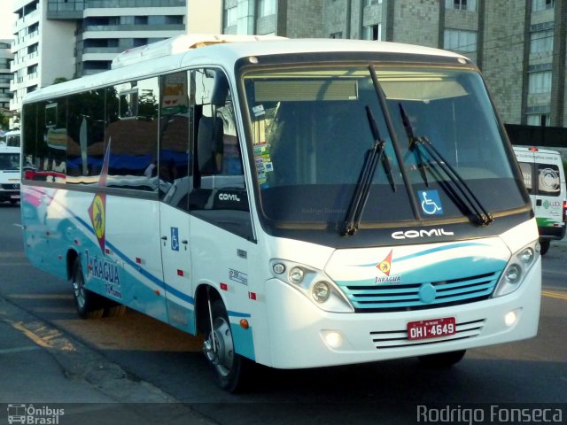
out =
[[[525,205],[484,82],[470,67],[269,67],[243,79],[261,213],[276,226],[340,227],[376,142],[372,121],[387,164],[373,170],[361,228],[470,220],[475,208],[461,184],[489,214]]]

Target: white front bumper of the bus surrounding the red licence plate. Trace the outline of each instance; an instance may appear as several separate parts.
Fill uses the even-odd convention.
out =
[[[518,341],[537,334],[540,292],[540,259],[509,295],[396,313],[323,312],[298,290],[272,279],[266,282],[263,335],[269,350],[257,352],[256,360],[278,368],[327,367]],[[408,322],[443,318],[454,318],[454,335],[408,340]]]

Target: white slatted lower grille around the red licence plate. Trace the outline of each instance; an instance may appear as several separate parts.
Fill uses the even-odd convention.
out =
[[[473,338],[480,335],[484,326],[484,319],[480,321],[457,323],[456,333],[454,335],[431,339],[409,340],[408,331],[406,329],[370,332],[370,337],[372,338],[372,344],[374,344],[377,350],[387,350],[415,345],[435,344],[442,341],[456,341],[459,339]]]

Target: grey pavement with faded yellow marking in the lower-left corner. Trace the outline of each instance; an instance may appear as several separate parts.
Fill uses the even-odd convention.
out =
[[[61,425],[213,423],[0,297],[0,424],[22,414]]]

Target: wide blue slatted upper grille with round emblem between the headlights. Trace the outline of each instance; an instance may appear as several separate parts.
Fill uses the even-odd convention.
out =
[[[493,293],[500,273],[478,274],[440,282],[346,285],[342,289],[357,312],[423,310],[487,299]]]

